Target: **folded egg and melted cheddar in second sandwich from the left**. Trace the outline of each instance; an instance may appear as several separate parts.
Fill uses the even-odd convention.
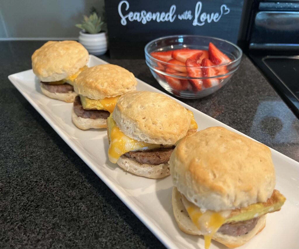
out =
[[[85,110],[105,110],[112,113],[120,96],[104,99],[91,99],[80,95],[81,104]]]

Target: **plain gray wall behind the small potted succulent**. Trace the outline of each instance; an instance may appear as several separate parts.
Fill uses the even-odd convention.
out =
[[[83,15],[104,0],[0,0],[0,40],[78,37]]]

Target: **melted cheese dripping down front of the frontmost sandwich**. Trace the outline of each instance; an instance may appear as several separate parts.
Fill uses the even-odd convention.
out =
[[[182,195],[183,204],[190,216],[190,219],[194,225],[201,231],[205,237],[205,248],[208,249],[211,244],[213,235],[217,232],[219,227],[225,223],[226,218],[230,215],[231,211],[215,212],[207,210],[201,212],[200,208],[192,202],[188,201],[184,195]]]

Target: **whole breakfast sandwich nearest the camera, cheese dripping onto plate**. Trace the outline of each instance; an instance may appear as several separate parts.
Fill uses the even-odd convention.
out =
[[[286,198],[275,187],[271,151],[222,127],[185,137],[170,157],[179,228],[229,248],[248,242]]]

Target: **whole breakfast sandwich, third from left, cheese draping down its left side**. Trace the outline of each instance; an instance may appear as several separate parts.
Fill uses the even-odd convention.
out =
[[[176,143],[196,130],[193,113],[173,99],[155,92],[127,92],[107,119],[108,157],[133,174],[166,177]]]

